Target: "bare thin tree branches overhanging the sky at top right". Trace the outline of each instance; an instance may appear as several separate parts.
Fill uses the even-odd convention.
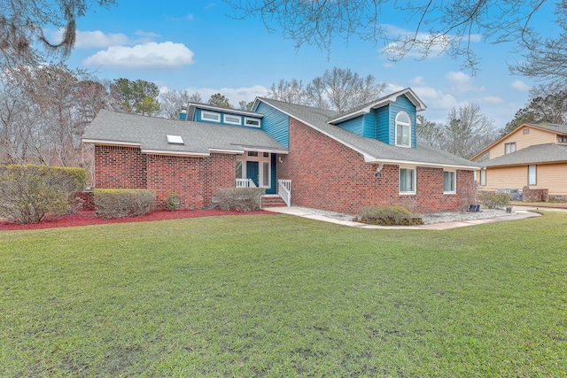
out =
[[[224,0],[235,9],[236,18],[260,17],[265,26],[296,42],[315,44],[330,54],[337,38],[358,37],[382,42],[392,60],[418,53],[422,58],[448,54],[475,71],[478,58],[473,43],[515,42],[518,50],[528,51],[527,63],[516,66],[518,73],[534,77],[567,75],[567,4],[546,4],[545,0]],[[386,11],[386,12],[384,12]],[[392,12],[403,20],[407,30],[389,30]],[[538,12],[554,12],[562,33],[556,38],[538,35],[540,25],[532,25]]]

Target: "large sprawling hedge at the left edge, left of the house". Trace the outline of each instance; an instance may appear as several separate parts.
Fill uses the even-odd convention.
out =
[[[85,189],[87,173],[64,166],[0,166],[0,216],[36,223],[50,213],[72,210],[74,194]]]

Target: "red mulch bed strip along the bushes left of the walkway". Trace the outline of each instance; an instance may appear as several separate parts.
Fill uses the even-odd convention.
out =
[[[146,215],[138,217],[127,217],[116,220],[105,220],[97,217],[94,211],[75,212],[74,214],[62,215],[56,218],[42,220],[39,223],[29,223],[20,225],[10,220],[0,220],[0,231],[18,230],[18,229],[38,229],[38,228],[61,228],[75,226],[102,225],[106,223],[129,223],[129,222],[147,222],[150,220],[179,220],[182,218],[201,218],[201,217],[218,217],[224,215],[256,215],[256,214],[274,214],[275,212],[267,212],[258,210],[256,212],[237,212],[231,210],[224,212],[219,209],[207,210],[180,210],[176,212],[150,212]]]

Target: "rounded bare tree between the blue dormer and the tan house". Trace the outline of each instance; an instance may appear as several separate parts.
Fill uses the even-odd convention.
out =
[[[471,158],[498,137],[489,120],[480,112],[477,104],[465,104],[451,108],[447,124],[443,127],[443,150],[461,158]]]

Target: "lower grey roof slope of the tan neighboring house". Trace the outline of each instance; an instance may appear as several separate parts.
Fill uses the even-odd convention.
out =
[[[567,144],[546,143],[526,147],[479,164],[481,166],[524,166],[562,161],[567,161]]]

